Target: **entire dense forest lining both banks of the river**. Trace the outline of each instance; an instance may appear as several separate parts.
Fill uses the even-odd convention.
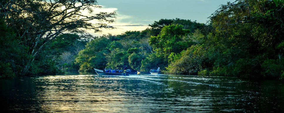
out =
[[[80,8],[99,7],[95,0],[84,2]],[[82,28],[112,28],[88,21],[111,23],[115,13],[82,20],[76,18],[78,6],[70,7],[71,14],[58,9],[75,4],[68,0],[50,5],[56,8],[29,0],[0,4],[0,77],[120,69],[126,64],[141,72],[160,66],[166,74],[284,78],[283,0],[236,0],[208,15],[206,24],[160,19],[143,31],[103,36]]]

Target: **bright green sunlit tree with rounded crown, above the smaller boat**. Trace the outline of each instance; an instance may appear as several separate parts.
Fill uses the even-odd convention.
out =
[[[178,54],[193,44],[188,40],[189,30],[182,29],[182,27],[182,25],[164,26],[158,36],[150,37],[149,44],[153,46],[156,56],[163,59],[158,62],[158,64],[163,64],[163,67],[167,67],[167,63],[172,60],[173,55],[171,54]]]

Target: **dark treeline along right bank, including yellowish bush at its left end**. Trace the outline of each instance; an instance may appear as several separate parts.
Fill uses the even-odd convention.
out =
[[[222,5],[209,17],[210,26],[199,35],[198,43],[174,56],[167,71],[283,79],[283,6],[283,0],[237,0]]]

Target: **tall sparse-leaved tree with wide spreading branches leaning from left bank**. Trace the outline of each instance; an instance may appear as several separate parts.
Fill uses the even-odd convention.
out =
[[[116,15],[115,12],[92,16],[81,13],[84,10],[92,13],[101,8],[96,0],[5,0],[1,4],[0,17],[20,37],[20,43],[29,48],[28,53],[33,57],[22,69],[22,74],[26,74],[43,47],[59,34],[70,32],[88,38],[91,35],[86,29],[98,32],[100,28],[112,28],[104,22],[114,22],[112,18]]]

